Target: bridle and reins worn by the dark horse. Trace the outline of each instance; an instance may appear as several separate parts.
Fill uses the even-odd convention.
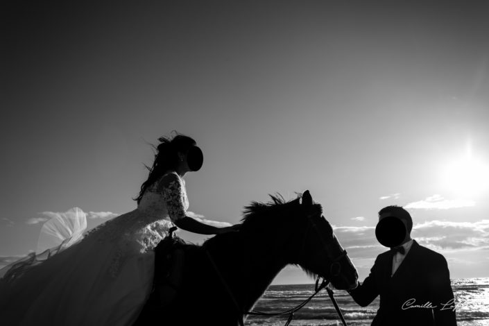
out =
[[[308,221],[307,222],[307,228],[306,228],[306,231],[304,232],[304,235],[303,235],[302,247],[299,251],[299,257],[304,250],[305,241],[307,239],[307,234],[309,232],[309,228],[311,225],[313,225],[314,230],[316,230],[316,232],[318,232],[318,235],[320,236],[320,233],[318,231],[316,223],[314,223],[314,221],[312,221],[312,217],[314,217],[316,215],[317,214],[311,214],[311,215],[307,216],[307,221]],[[322,237],[319,237],[319,239],[321,239],[321,242],[323,244],[323,246],[322,246],[323,250],[325,250],[327,257],[329,258],[329,251],[327,250],[327,242],[324,241]],[[332,300],[332,302],[334,304],[334,308],[336,309],[338,316],[341,318],[341,321],[343,322],[343,325],[347,326],[345,318],[343,318],[343,314],[341,313],[341,310],[339,309],[338,304],[336,303],[336,300],[334,299],[334,293],[333,293],[332,289],[329,289],[327,287],[327,285],[330,283],[330,281],[326,280],[324,277],[320,277],[319,275],[316,278],[316,286],[315,286],[314,293],[312,295],[310,295],[309,298],[304,300],[302,303],[298,304],[296,307],[293,307],[291,309],[288,309],[286,311],[281,311],[278,313],[265,313],[265,312],[257,311],[257,310],[241,311],[241,309],[239,308],[239,304],[238,304],[236,298],[234,297],[234,295],[233,295],[233,293],[232,293],[232,291],[228,285],[228,282],[226,282],[223,275],[221,275],[221,271],[219,271],[219,268],[216,266],[214,259],[212,259],[212,256],[210,255],[210,253],[207,249],[205,249],[205,253],[206,253],[207,257],[209,258],[209,261],[211,262],[214,270],[216,271],[216,274],[218,275],[219,279],[221,280],[221,283],[223,284],[225,290],[228,292],[228,295],[230,296],[230,298],[234,304],[234,307],[237,309],[237,313],[239,314],[238,321],[239,321],[240,326],[244,326],[243,317],[241,315],[254,315],[254,316],[284,316],[284,315],[289,315],[289,318],[287,319],[287,321],[284,325],[284,326],[289,326],[289,324],[293,320],[294,313],[296,311],[299,311],[300,309],[302,309],[302,307],[304,307],[307,303],[309,303],[309,301],[311,301],[311,299],[314,298],[314,296],[316,296],[316,294],[318,294],[322,289],[325,289],[325,288],[326,288],[326,291],[329,295],[329,298]],[[343,249],[343,251],[337,257],[334,257],[333,259],[329,259],[329,261],[331,262],[331,264],[329,265],[329,273],[333,277],[336,277],[336,276],[341,274],[341,264],[339,263],[339,261],[341,259],[343,259],[344,257],[346,257],[346,255],[347,255],[347,252],[346,252],[346,250]],[[334,266],[337,266],[337,272],[336,273],[333,273]],[[320,283],[321,279],[323,279],[323,281]]]

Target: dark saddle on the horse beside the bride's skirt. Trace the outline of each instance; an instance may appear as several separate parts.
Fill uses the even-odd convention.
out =
[[[182,285],[186,243],[173,234],[175,230],[177,228],[171,228],[169,236],[155,248],[155,277],[151,293],[153,298],[150,300],[160,308],[169,306],[175,300]]]

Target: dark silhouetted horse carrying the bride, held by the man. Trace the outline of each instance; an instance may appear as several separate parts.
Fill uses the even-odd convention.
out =
[[[271,199],[245,207],[237,232],[202,246],[185,244],[175,298],[162,306],[153,291],[135,325],[243,325],[246,312],[289,264],[336,289],[357,286],[356,268],[309,191],[289,202],[280,195]],[[155,273],[155,282],[161,277]]]

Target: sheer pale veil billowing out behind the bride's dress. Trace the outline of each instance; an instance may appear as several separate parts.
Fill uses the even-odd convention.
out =
[[[83,239],[86,228],[87,215],[78,207],[66,213],[52,214],[51,219],[42,225],[36,252],[30,252],[26,257],[1,268],[0,281],[12,282],[42,261],[73,246]]]

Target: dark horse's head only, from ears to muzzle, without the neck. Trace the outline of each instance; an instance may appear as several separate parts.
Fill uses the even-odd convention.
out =
[[[329,280],[336,289],[353,289],[358,282],[357,269],[334,236],[320,205],[313,204],[309,191],[302,194],[300,205],[303,214],[298,217],[301,221],[291,248],[293,263],[309,274]]]

